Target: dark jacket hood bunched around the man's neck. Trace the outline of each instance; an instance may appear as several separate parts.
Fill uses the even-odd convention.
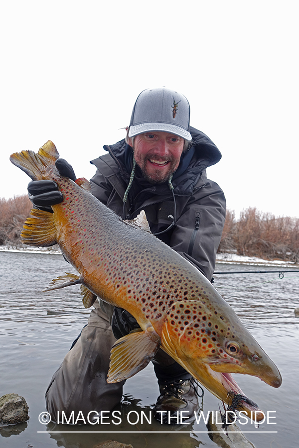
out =
[[[201,185],[197,184],[202,172],[207,167],[215,165],[221,159],[219,149],[207,135],[191,126],[189,126],[189,131],[192,135],[192,146],[182,154],[179,166],[172,178],[174,193],[178,195],[190,195],[194,188],[200,188]],[[133,152],[131,146],[123,139],[114,145],[104,146],[104,149],[109,151],[119,166],[122,178],[128,183],[133,168]],[[186,170],[188,170],[187,176]],[[136,174],[140,177],[138,170]],[[142,183],[144,184],[144,188],[149,188],[152,191],[155,190],[155,185],[150,184],[145,179]],[[163,186],[165,188],[161,188]],[[169,193],[168,185],[163,184],[163,186],[159,185],[160,194]]]

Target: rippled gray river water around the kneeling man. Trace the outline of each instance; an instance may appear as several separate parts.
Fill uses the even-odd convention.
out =
[[[216,266],[216,271],[222,272],[257,269],[231,263]],[[126,382],[124,400],[118,407],[121,424],[111,420],[95,426],[39,423],[52,374],[90,313],[82,305],[77,286],[41,292],[65,271],[73,270],[60,254],[0,252],[0,396],[12,392],[23,396],[30,416],[26,423],[0,428],[0,447],[93,448],[106,440],[131,443],[134,448],[216,447],[202,420],[180,428],[154,421],[149,424],[146,419],[141,423],[142,411],[149,417],[158,396],[151,365]],[[274,389],[258,378],[234,375],[244,393],[275,417],[258,429],[250,423],[239,426],[256,448],[298,447],[299,317],[294,309],[299,307],[299,271],[286,273],[284,278],[277,273],[214,277],[214,286],[283,376],[282,386]],[[203,415],[218,410],[219,404],[205,391]]]

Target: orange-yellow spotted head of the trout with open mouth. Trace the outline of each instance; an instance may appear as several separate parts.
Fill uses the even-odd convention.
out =
[[[273,387],[281,385],[282,377],[233,309],[222,301],[221,306],[211,301],[175,302],[162,329],[161,346],[223,402],[231,405],[232,397],[244,397],[238,410],[255,411],[260,421],[263,414],[231,373],[257,376]]]

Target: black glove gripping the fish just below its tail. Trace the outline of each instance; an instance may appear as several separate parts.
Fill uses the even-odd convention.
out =
[[[76,176],[72,166],[64,159],[57,159],[55,162],[59,174],[69,177],[73,181]],[[32,181],[28,184],[28,196],[33,207],[46,212],[51,212],[51,205],[60,204],[63,201],[63,195],[58,190],[56,182],[51,180]]]

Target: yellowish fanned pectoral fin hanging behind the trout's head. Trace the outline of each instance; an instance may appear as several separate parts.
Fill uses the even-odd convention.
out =
[[[121,337],[111,349],[107,383],[118,383],[144,369],[160,346],[152,327]]]

